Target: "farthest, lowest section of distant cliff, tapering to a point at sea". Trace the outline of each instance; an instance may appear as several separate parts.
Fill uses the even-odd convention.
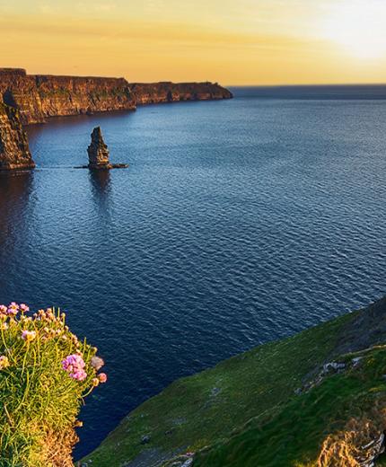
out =
[[[136,103],[153,104],[177,101],[213,101],[232,99],[232,93],[214,83],[133,83]]]

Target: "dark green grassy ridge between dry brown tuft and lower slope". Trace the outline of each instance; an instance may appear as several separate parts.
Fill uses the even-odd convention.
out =
[[[241,433],[199,454],[194,467],[316,465],[329,434],[370,412],[375,401],[386,403],[386,349],[364,355],[360,366],[326,377],[311,391],[290,397],[273,417],[254,419]]]

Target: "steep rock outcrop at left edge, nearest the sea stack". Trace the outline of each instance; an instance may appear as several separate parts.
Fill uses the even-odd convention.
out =
[[[0,170],[33,167],[35,163],[18,111],[0,102]]]

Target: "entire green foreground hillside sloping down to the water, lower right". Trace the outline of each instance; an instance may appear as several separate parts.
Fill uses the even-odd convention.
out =
[[[385,465],[385,341],[386,298],[254,348],[145,401],[84,465]]]

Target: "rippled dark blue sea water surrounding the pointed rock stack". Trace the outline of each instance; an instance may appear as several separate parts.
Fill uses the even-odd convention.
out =
[[[386,101],[254,96],[52,119],[39,169],[0,178],[0,303],[60,305],[107,361],[78,455],[174,379],[386,292]],[[72,168],[96,125],[129,169]]]

